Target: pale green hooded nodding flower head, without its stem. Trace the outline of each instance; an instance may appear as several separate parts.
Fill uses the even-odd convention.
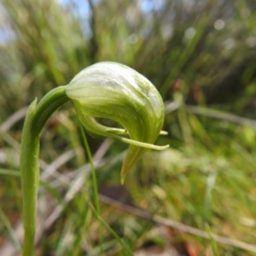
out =
[[[121,171],[122,183],[148,148],[168,148],[153,144],[160,133],[164,134],[161,128],[165,112],[160,94],[130,67],[114,62],[87,67],[67,84],[66,93],[91,136],[130,143]],[[124,129],[101,125],[95,118],[112,119]]]

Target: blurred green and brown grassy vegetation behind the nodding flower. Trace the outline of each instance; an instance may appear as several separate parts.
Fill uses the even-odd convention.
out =
[[[117,61],[160,90],[169,135],[157,143],[171,145],[150,151],[128,175],[124,188],[132,204],[152,216],[199,230],[207,224],[211,234],[255,245],[254,0],[2,0],[0,7],[0,244],[7,239],[19,248],[14,226],[21,212],[24,107],[92,63]],[[67,104],[42,135],[39,197],[46,230],[37,254],[99,255],[102,247],[104,255],[129,255],[105,226],[100,244],[90,207],[90,168],[76,123]],[[127,145],[89,140],[100,191],[106,194],[120,183]],[[171,242],[211,255],[212,241],[201,236],[171,228],[163,232],[150,219],[104,202],[101,207],[104,221],[133,252]],[[52,212],[57,217],[51,221],[45,214]],[[220,255],[255,255],[224,242],[216,246]]]

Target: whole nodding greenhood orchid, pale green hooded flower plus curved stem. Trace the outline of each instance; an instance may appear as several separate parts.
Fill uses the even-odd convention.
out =
[[[130,67],[100,62],[85,68],[70,84],[50,90],[40,102],[32,102],[26,113],[20,149],[25,230],[23,256],[33,255],[41,131],[51,114],[69,100],[73,101],[81,123],[92,136],[113,137],[130,143],[121,171],[122,183],[148,148],[168,148],[168,145],[160,147],[153,144],[160,134],[165,134],[161,131],[164,105],[160,94],[148,79]],[[101,125],[96,118],[113,119],[124,129]]]

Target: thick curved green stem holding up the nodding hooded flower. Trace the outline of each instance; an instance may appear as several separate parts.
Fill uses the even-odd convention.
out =
[[[23,198],[24,244],[23,256],[33,255],[33,243],[36,230],[36,213],[39,181],[39,145],[40,135],[46,121],[57,108],[67,102],[66,86],[59,86],[44,96],[41,102],[32,102],[21,138],[20,176]]]

